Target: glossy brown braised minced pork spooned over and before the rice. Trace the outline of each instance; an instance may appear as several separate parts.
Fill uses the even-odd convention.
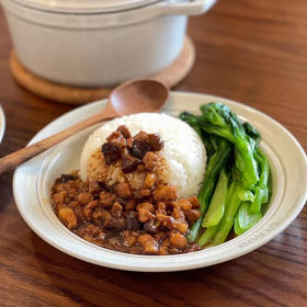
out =
[[[101,151],[105,164],[121,164],[125,174],[144,173],[140,189],[128,180],[113,185],[75,174],[62,174],[52,190],[52,204],[61,223],[81,238],[138,254],[173,254],[198,250],[185,235],[200,216],[196,196],[177,200],[177,187],[157,182],[156,169],[163,140],[158,134],[132,137],[125,126],[107,137]],[[117,166],[116,164],[116,166]]]

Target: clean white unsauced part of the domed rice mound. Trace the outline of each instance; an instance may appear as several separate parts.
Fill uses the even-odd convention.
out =
[[[168,169],[166,182],[177,186],[178,198],[198,194],[207,160],[203,141],[186,123],[158,113],[138,113],[115,118],[93,132],[81,154],[81,180],[88,180],[87,169],[91,155],[101,148],[106,137],[120,125],[126,125],[133,136],[140,130],[158,133],[164,140],[164,147],[160,152],[166,159]]]

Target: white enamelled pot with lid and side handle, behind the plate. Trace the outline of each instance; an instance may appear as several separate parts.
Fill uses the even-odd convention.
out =
[[[186,15],[215,0],[2,0],[19,59],[58,83],[101,87],[150,76],[179,55]]]

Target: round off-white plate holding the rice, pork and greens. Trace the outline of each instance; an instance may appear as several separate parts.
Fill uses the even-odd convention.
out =
[[[93,127],[75,135],[61,145],[22,164],[13,179],[18,208],[27,225],[55,248],[78,259],[129,271],[166,272],[220,263],[246,254],[283,231],[299,214],[307,197],[307,160],[297,140],[278,123],[261,112],[237,102],[194,93],[171,94],[164,112],[177,116],[182,111],[198,112],[203,103],[220,101],[241,118],[251,122],[262,134],[261,146],[272,169],[273,194],[270,207],[252,229],[218,247],[178,255],[135,255],[111,251],[89,243],[70,232],[57,219],[49,202],[53,181],[78,168],[83,141]],[[95,114],[104,101],[78,107],[42,129],[31,143]]]

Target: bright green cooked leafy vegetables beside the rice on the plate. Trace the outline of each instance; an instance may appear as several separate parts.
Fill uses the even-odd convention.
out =
[[[270,197],[270,166],[250,123],[241,123],[221,103],[203,104],[201,112],[184,112],[180,118],[197,132],[207,151],[198,194],[202,216],[187,234],[190,241],[204,247],[225,242],[232,228],[239,236],[262,218],[262,204]]]

